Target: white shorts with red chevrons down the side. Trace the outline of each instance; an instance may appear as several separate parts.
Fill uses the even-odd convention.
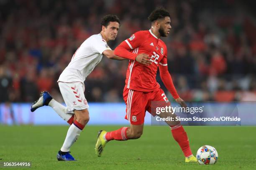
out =
[[[73,110],[89,108],[84,97],[84,83],[82,82],[59,82],[59,90],[66,103],[66,112],[74,113]]]

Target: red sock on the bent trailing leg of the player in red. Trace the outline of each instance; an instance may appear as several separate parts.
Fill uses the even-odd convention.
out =
[[[111,132],[106,133],[106,140],[110,141],[110,140],[128,140],[127,135],[126,135],[126,131],[127,131],[128,127],[122,127],[118,130],[114,130]]]

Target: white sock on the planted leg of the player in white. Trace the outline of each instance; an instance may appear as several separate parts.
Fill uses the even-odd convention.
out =
[[[62,152],[69,152],[70,147],[74,144],[74,142],[79,137],[82,130],[77,128],[74,124],[69,127],[67,132],[66,139],[61,147]]]

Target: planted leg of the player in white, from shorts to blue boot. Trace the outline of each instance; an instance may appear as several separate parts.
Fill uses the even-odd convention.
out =
[[[61,87],[61,94],[67,105],[66,110],[74,110],[76,119],[72,122],[69,127],[65,141],[57,154],[58,160],[75,160],[70,155],[69,150],[74,142],[79,137],[80,133],[84,129],[84,126],[89,121],[88,104],[84,97],[84,86],[81,82],[74,83],[59,83]],[[69,88],[72,87],[72,88]],[[64,90],[67,89],[67,90]],[[74,90],[75,89],[75,90]],[[74,90],[74,91],[73,91]]]

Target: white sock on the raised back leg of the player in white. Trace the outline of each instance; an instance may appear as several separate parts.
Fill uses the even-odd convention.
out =
[[[58,115],[65,120],[66,122],[72,117],[73,114],[71,113],[66,113],[66,107],[64,105],[61,105],[59,102],[56,100],[52,99],[49,102],[49,106],[51,106]]]

